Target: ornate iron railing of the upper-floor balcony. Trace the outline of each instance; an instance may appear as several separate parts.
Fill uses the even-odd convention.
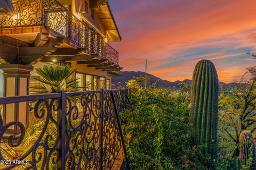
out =
[[[118,64],[118,52],[88,23],[79,20],[57,0],[12,0],[15,16],[0,15],[0,29],[45,25],[75,47]]]

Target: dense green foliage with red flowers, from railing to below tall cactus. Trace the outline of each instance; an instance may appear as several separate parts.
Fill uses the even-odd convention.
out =
[[[205,154],[206,146],[189,145],[194,124],[189,122],[190,94],[186,86],[179,90],[143,89],[141,81],[127,82],[133,89],[130,104],[121,113],[132,169],[239,169],[239,159],[232,158],[223,145],[218,157]],[[220,131],[219,136],[223,134],[226,132]],[[228,137],[226,142],[230,143]]]

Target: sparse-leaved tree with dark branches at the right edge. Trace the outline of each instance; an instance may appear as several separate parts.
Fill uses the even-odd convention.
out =
[[[248,77],[250,79],[246,80]],[[238,156],[241,132],[256,130],[256,66],[247,68],[236,87],[220,94],[219,107],[220,130],[235,143],[233,157]]]

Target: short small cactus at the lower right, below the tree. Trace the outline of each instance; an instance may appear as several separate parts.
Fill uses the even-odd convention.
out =
[[[246,164],[247,160],[250,156],[253,158],[253,166],[252,169],[256,169],[255,166],[255,148],[254,148],[254,141],[252,137],[251,131],[244,130],[239,135],[239,157],[243,160],[243,163]],[[250,148],[252,148],[252,152],[250,153]],[[252,155],[250,155],[252,154]]]

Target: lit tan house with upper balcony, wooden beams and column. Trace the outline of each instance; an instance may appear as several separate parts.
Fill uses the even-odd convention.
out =
[[[107,0],[8,1],[15,13],[0,10],[0,97],[29,95],[35,68],[56,63],[77,69],[81,90],[111,88],[122,67],[108,42],[121,36]],[[28,110],[27,103],[6,104],[3,121],[26,123]]]

